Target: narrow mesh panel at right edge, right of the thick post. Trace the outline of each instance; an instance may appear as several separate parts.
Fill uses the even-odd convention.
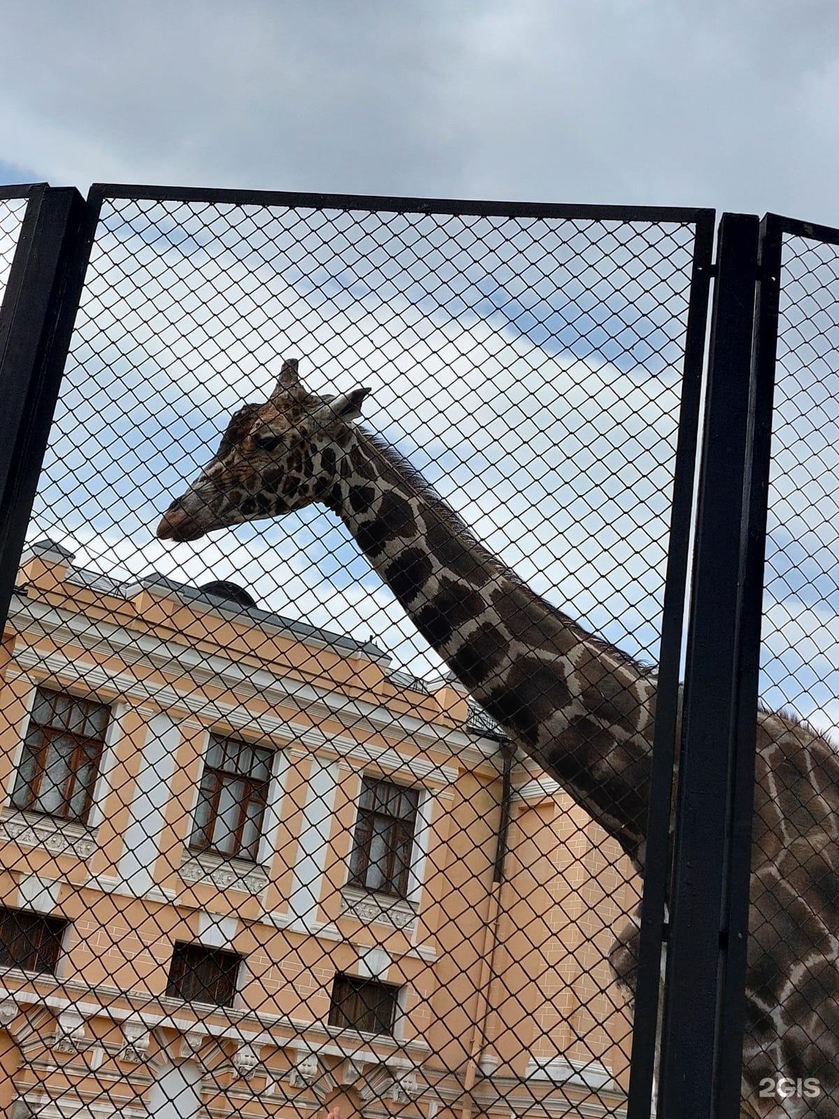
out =
[[[833,1116],[839,248],[785,236],[782,261],[761,695],[790,717],[758,722],[746,1053],[753,1104]]]

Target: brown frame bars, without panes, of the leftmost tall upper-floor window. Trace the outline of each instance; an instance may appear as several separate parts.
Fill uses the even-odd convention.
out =
[[[101,732],[102,736],[97,739],[93,735],[81,734],[78,731],[65,730],[58,726],[48,726],[40,723],[35,715],[39,697],[46,697],[47,703],[49,704],[54,703],[51,697],[58,697],[69,699],[73,704],[84,704],[88,707],[103,708],[106,712],[106,716]],[[75,692],[66,688],[56,688],[41,684],[36,685],[32,692],[31,706],[26,723],[26,730],[22,734],[20,755],[15,768],[11,796],[8,801],[9,807],[13,811],[30,812],[34,816],[40,816],[44,819],[60,820],[65,824],[76,824],[82,827],[87,826],[94,803],[96,786],[102,772],[102,758],[107,744],[107,732],[112,721],[112,703],[79,696],[76,695]],[[29,745],[29,736],[36,731],[41,735],[41,742],[37,747],[31,747]],[[43,808],[38,807],[38,800],[41,796],[44,781],[49,770],[47,762],[49,759],[49,752],[53,747],[53,742],[55,739],[60,736],[70,737],[74,741],[73,753],[68,762],[69,775],[62,787],[63,803],[60,810],[57,812],[47,812]],[[30,756],[34,756],[35,759],[35,771],[31,780],[21,784],[20,773]],[[81,811],[73,812],[70,806],[78,788],[78,773],[88,760],[91,764],[91,780],[85,790],[84,803]],[[21,792],[26,794],[25,803],[19,802]]]

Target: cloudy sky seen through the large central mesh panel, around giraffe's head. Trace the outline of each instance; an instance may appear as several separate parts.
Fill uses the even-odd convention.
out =
[[[277,612],[381,634],[414,671],[439,664],[389,592],[365,600],[377,576],[326,511],[153,538],[229,413],[295,352],[314,389],[370,385],[369,425],[490,548],[654,660],[690,238],[109,203],[30,535],[126,579],[236,577]]]

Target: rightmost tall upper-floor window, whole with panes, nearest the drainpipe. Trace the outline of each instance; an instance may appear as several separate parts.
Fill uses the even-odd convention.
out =
[[[352,886],[406,897],[420,794],[388,781],[364,778],[352,836]]]

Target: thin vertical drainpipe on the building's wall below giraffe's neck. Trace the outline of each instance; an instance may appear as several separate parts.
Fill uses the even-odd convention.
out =
[[[505,887],[505,856],[507,855],[508,837],[510,831],[510,815],[512,803],[512,762],[516,756],[516,747],[511,742],[501,743],[501,756],[503,759],[503,770],[501,774],[501,816],[498,821],[498,836],[496,839],[496,857],[492,864],[492,886],[490,888],[489,905],[487,908],[487,919],[483,923],[483,944],[481,949],[481,971],[478,981],[478,1007],[475,1013],[475,1024],[472,1031],[472,1043],[469,1050],[466,1072],[463,1076],[463,1092],[461,1096],[461,1119],[471,1119],[474,1104],[472,1101],[472,1088],[478,1079],[479,1060],[484,1045],[487,1044],[487,1019],[490,1013],[490,995],[492,981],[496,978],[496,949],[498,947],[498,927],[501,920],[501,891]]]

